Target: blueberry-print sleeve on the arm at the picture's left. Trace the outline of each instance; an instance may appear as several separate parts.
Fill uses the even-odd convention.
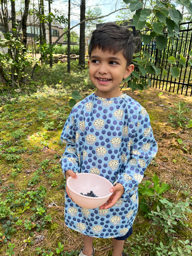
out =
[[[60,158],[63,173],[65,173],[67,170],[79,172],[79,158],[75,146],[75,142],[78,140],[78,133],[76,133],[73,109],[65,122],[60,139],[66,144],[65,151]]]

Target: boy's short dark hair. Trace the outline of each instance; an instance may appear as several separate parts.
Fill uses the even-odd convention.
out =
[[[127,66],[129,66],[135,49],[135,38],[129,29],[121,27],[116,23],[108,22],[93,31],[89,44],[89,58],[91,57],[92,50],[96,47],[103,51],[112,51],[113,53],[122,51],[127,61]]]

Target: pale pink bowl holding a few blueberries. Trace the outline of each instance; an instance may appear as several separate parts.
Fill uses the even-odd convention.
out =
[[[97,174],[78,173],[77,179],[69,177],[67,186],[73,202],[82,208],[94,209],[108,201],[108,198],[112,195],[109,189],[113,187],[113,184]],[[88,197],[80,194],[87,194],[91,190],[98,197]]]

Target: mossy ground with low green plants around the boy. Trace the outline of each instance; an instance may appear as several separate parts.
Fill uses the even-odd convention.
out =
[[[54,78],[57,82],[54,83]],[[73,256],[82,235],[65,227],[60,134],[70,99],[90,94],[87,70],[44,66],[34,81],[0,94],[0,255]],[[77,90],[80,93],[73,93]],[[140,209],[124,253],[192,254],[192,98],[123,88],[148,111],[159,151],[139,188]],[[71,97],[72,96],[72,97]],[[96,256],[111,256],[96,239]]]

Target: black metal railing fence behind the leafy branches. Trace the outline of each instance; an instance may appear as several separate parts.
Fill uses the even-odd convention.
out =
[[[179,38],[173,38],[174,46],[168,39],[168,47],[164,50],[157,49],[155,41],[142,46],[142,49],[147,50],[155,58],[155,61],[153,61],[155,66],[161,69],[161,73],[158,76],[151,75],[150,77],[154,88],[192,96],[192,65],[189,63],[192,59],[192,56],[189,56],[189,52],[192,50],[192,22],[181,23],[179,32]],[[180,55],[187,56],[187,61],[185,67],[177,61],[180,75],[174,78],[170,73],[170,65],[167,60],[169,56],[174,56],[176,60],[179,60]],[[163,74],[164,69],[167,72],[165,76]]]

